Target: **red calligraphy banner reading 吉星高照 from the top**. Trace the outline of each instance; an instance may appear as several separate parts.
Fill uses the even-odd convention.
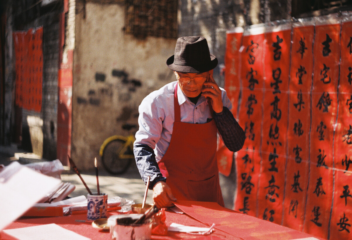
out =
[[[264,119],[258,217],[282,223],[287,155],[288,82],[291,24],[265,34]]]

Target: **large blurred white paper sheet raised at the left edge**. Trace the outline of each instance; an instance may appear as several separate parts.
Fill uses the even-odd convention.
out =
[[[20,217],[61,180],[45,176],[17,162],[0,172],[0,230]]]

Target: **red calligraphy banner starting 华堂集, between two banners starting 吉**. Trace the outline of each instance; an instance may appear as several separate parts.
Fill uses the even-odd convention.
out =
[[[283,225],[302,231],[309,179],[314,25],[295,23],[291,46],[288,153]]]

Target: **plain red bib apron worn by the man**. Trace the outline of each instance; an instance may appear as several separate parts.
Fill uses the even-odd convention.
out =
[[[174,94],[175,122],[168,150],[158,163],[177,200],[217,202],[224,206],[216,162],[216,125],[181,122]]]

